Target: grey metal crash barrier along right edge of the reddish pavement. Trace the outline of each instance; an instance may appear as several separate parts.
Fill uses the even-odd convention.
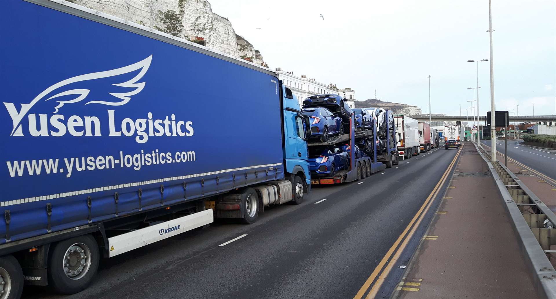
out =
[[[538,295],[556,298],[556,271],[549,260],[556,259],[556,250],[550,250],[551,245],[556,245],[556,215],[506,166],[498,161],[492,163],[483,146],[475,147],[488,164],[504,199]]]

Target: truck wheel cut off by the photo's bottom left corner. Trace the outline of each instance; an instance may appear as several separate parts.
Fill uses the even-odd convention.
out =
[[[23,271],[16,258],[0,257],[0,298],[19,299],[23,292]]]

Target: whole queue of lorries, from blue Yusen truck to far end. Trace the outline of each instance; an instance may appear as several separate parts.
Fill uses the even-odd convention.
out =
[[[2,8],[2,299],[80,292],[102,257],[251,224],[438,146],[428,123],[337,94],[300,108],[267,68],[71,2]]]

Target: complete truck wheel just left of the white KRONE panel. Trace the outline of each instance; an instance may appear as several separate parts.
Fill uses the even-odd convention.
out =
[[[98,244],[91,235],[60,241],[48,260],[48,285],[58,293],[81,292],[95,276],[99,260]]]

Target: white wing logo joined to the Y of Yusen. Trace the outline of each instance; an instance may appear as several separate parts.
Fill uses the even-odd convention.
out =
[[[131,72],[135,72],[136,70],[140,70],[140,72],[133,77],[132,79],[123,82],[123,83],[116,83],[116,84],[112,84],[118,87],[124,87],[124,88],[128,88],[127,92],[124,93],[108,93],[110,95],[112,95],[113,97],[115,97],[117,100],[117,102],[110,102],[110,101],[106,101],[106,100],[90,100],[88,102],[86,102],[84,105],[87,104],[104,104],[104,105],[111,105],[111,106],[121,106],[126,104],[127,102],[130,101],[131,96],[132,95],[136,95],[138,93],[141,92],[141,90],[143,90],[143,88],[145,87],[145,82],[137,82],[139,81],[143,75],[145,75],[145,73],[148,70],[148,67],[150,67],[151,65],[151,60],[152,60],[152,55],[150,55],[149,57],[141,60],[140,62],[136,62],[130,65],[127,65],[126,67],[122,67],[122,68],[118,68],[118,69],[112,69],[112,70],[106,70],[104,72],[97,72],[97,73],[90,73],[90,74],[84,74],[84,75],[78,75],[76,77],[72,77],[66,80],[63,80],[62,82],[58,82],[54,85],[52,85],[51,87],[45,89],[42,93],[40,93],[39,95],[37,95],[37,97],[35,97],[31,103],[29,104],[21,104],[21,110],[19,110],[19,112],[17,112],[17,109],[15,107],[15,105],[13,103],[4,103],[4,105],[6,106],[6,109],[8,109],[8,113],[10,114],[10,116],[12,117],[13,120],[13,130],[12,130],[12,136],[16,135],[16,136],[21,136],[21,120],[24,118],[25,115],[27,115],[27,113],[29,112],[29,110],[31,110],[31,108],[37,104],[39,101],[41,101],[44,97],[46,97],[48,94],[51,94],[52,92],[57,92],[58,89],[63,89],[62,87],[68,85],[68,84],[72,84],[72,83],[76,83],[76,82],[82,82],[82,81],[88,81],[88,80],[94,80],[94,79],[101,79],[101,78],[108,78],[108,77],[115,77],[117,75],[122,75],[122,74],[127,74],[127,73],[131,73]],[[129,88],[133,88],[132,90],[129,90]],[[52,95],[51,97],[44,99],[44,101],[49,101],[49,100],[55,100],[56,98],[59,97],[63,97],[63,96],[67,96],[67,95],[75,95],[76,97],[70,100],[59,100],[56,101],[58,102],[58,105],[56,107],[54,107],[54,112],[52,113],[57,113],[58,109],[62,108],[64,104],[73,104],[73,103],[78,103],[81,102],[82,100],[85,100],[87,98],[87,95],[91,92],[91,89],[70,89],[70,90],[63,90],[61,92],[58,92],[54,95]]]

